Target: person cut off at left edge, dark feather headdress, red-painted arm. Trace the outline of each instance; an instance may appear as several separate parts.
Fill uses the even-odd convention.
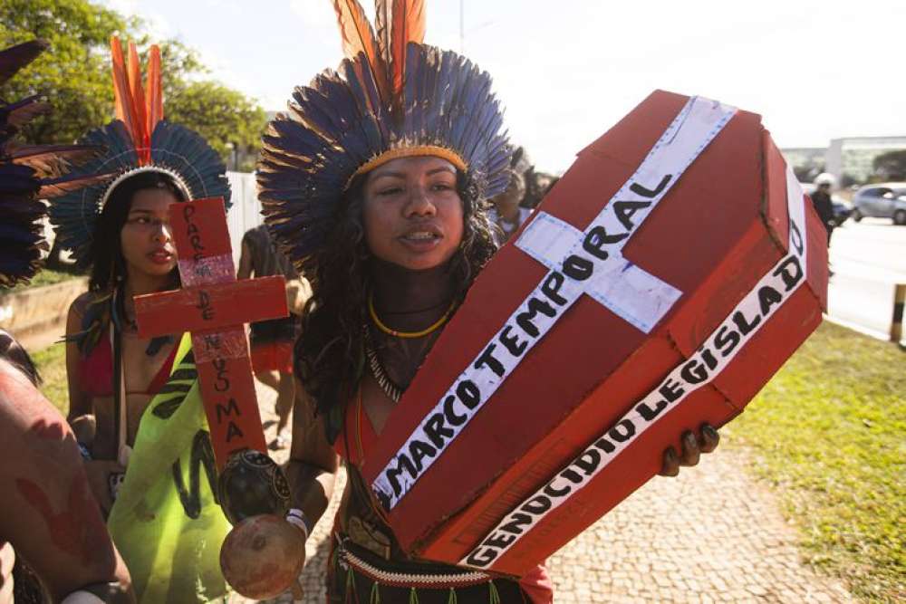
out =
[[[46,47],[33,40],[0,52],[0,85]],[[46,249],[41,223],[46,207],[39,199],[109,177],[64,174],[71,162],[101,150],[96,146],[25,145],[14,139],[24,123],[49,108],[40,95],[0,101],[4,287],[27,282],[39,268]],[[43,602],[43,591],[64,603],[134,601],[129,572],[94,503],[72,431],[38,391],[39,383],[28,353],[0,329],[0,602]]]

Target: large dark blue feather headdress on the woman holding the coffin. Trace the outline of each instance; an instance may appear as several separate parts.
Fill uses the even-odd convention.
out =
[[[268,126],[258,190],[265,221],[300,263],[323,245],[353,178],[402,157],[437,156],[479,197],[508,183],[510,149],[491,78],[467,58],[423,44],[425,0],[333,0],[345,58],[293,93]]]

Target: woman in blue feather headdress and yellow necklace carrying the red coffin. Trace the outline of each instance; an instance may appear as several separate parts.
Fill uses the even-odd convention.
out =
[[[550,602],[522,580],[413,560],[359,468],[400,394],[495,252],[485,200],[510,149],[487,72],[422,43],[423,0],[378,0],[376,32],[336,0],[346,58],[294,91],[258,167],[265,222],[313,287],[295,348],[287,472],[307,531],[348,483],[333,530],[331,602]]]

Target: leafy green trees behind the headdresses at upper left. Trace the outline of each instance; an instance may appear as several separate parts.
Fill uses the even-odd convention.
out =
[[[242,92],[204,81],[206,70],[194,50],[173,40],[151,41],[142,27],[140,19],[88,0],[0,0],[0,47],[34,37],[51,44],[50,52],[0,89],[2,98],[40,92],[53,102],[53,112],[34,120],[24,139],[71,142],[111,120],[109,44],[117,34],[135,40],[140,50],[151,42],[159,44],[166,117],[198,131],[227,167],[251,169],[265,129],[265,111]],[[243,159],[238,166],[236,157]]]

